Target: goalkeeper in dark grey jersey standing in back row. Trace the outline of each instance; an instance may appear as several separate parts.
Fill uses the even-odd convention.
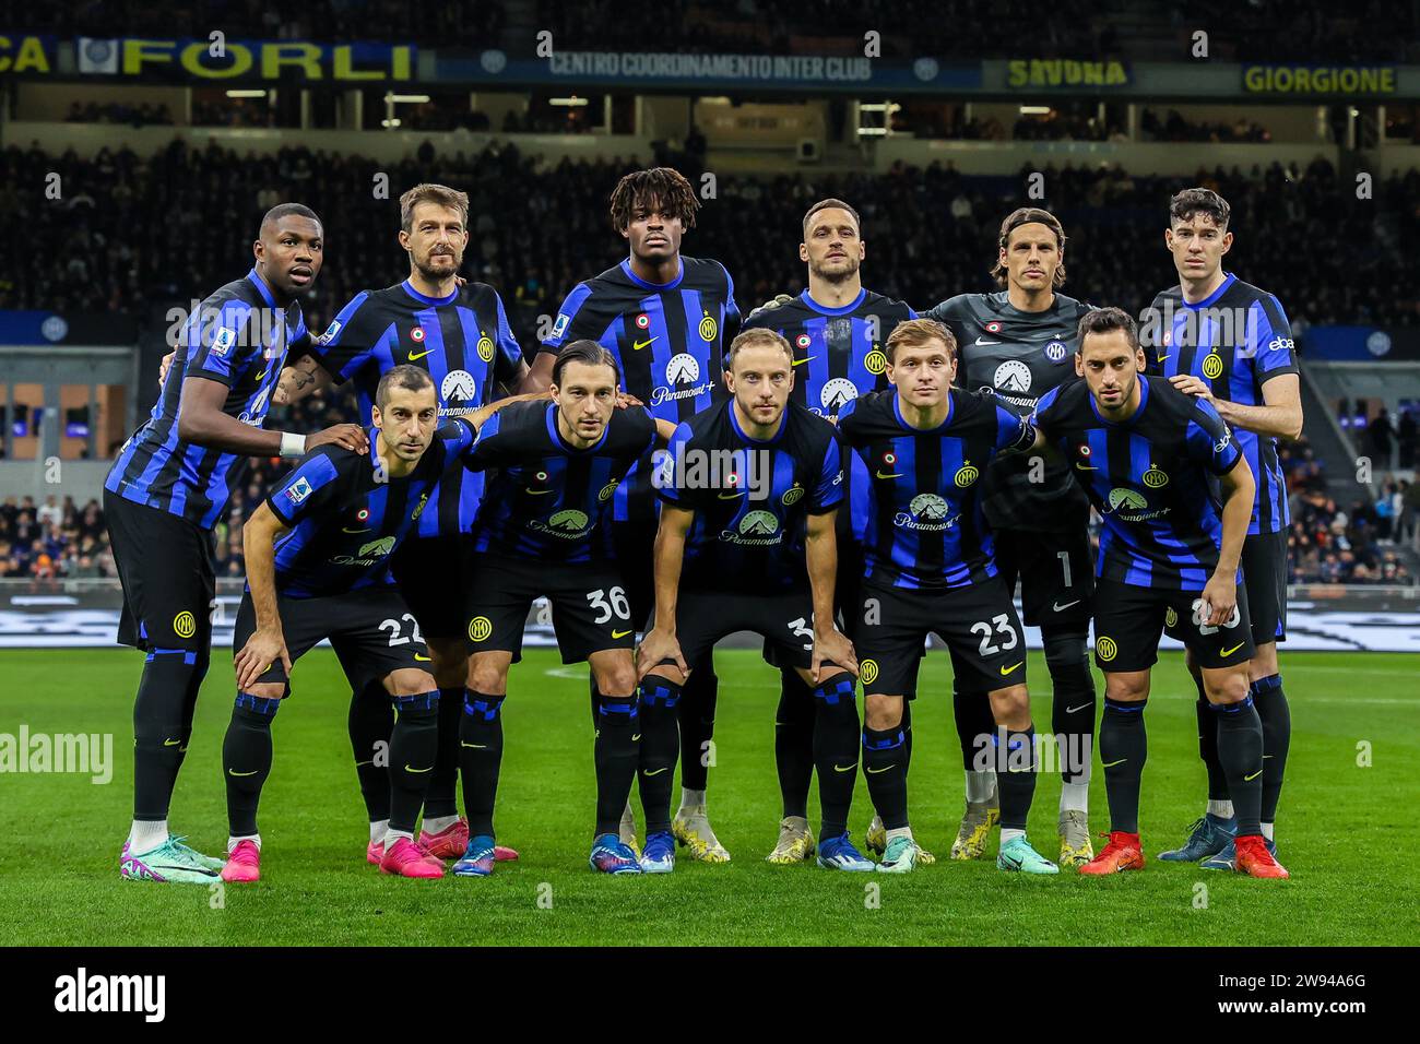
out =
[[[958,294],[927,312],[957,338],[958,384],[994,391],[1028,413],[1054,388],[1076,381],[1076,330],[1089,305],[1056,293],[1065,283],[1065,229],[1048,210],[1021,207],[1001,222],[994,294]],[[1051,732],[1061,751],[1062,866],[1093,857],[1089,768],[1095,679],[1089,672],[1093,565],[1089,504],[1069,469],[1041,457],[1005,455],[985,472],[985,517],[995,530],[995,562],[1007,587],[1021,581],[1025,622],[1039,625],[1051,672]],[[956,665],[954,665],[956,666]],[[970,673],[953,670],[956,678]],[[967,811],[953,859],[978,859],[1000,820],[994,773],[973,770],[977,737],[994,722],[984,692],[954,683],[953,705],[967,777]]]

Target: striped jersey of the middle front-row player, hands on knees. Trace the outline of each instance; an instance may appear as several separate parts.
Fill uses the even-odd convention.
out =
[[[791,402],[772,439],[753,439],[727,399],[676,429],[656,490],[696,513],[682,584],[747,594],[807,587],[808,516],[843,499],[838,437],[832,423]]]

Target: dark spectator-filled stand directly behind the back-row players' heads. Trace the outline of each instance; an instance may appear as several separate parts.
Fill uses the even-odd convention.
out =
[[[606,199],[626,169],[625,162],[550,163],[511,146],[402,163],[307,149],[239,155],[176,142],[146,159],[122,148],[92,159],[10,148],[0,152],[0,308],[142,318],[151,307],[200,298],[250,266],[260,214],[295,200],[325,219],[325,270],[304,303],[311,327],[324,328],[359,290],[403,277],[409,261],[395,239],[398,197],[436,180],[470,193],[463,271],[500,290],[514,331],[531,347],[537,315],[554,312],[578,281],[623,256]],[[699,183],[694,161],[682,169]],[[379,172],[389,175],[388,199],[372,199]],[[51,173],[60,175],[58,200],[44,197]],[[1416,170],[1377,179],[1366,200],[1325,161],[1292,173],[1272,166],[1186,179],[1069,166],[1044,173],[1039,200],[1024,199],[1024,175],[963,176],[941,165],[721,178],[684,251],[723,261],[748,310],[804,286],[801,217],[815,200],[836,196],[863,214],[865,284],[929,307],[995,288],[987,273],[1001,217],[1030,202],[1065,224],[1066,293],[1137,312],[1176,280],[1163,244],[1170,195],[1203,183],[1233,205],[1237,240],[1225,267],[1277,294],[1294,330],[1420,324],[1420,291],[1397,277],[1413,267],[1406,244],[1420,233]]]

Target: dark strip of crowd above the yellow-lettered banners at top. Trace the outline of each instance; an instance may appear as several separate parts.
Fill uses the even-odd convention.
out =
[[[1048,21],[1044,14],[1048,11]],[[33,4],[0,0],[0,27],[60,37],[187,36],[230,38],[383,40],[439,48],[501,47],[530,57],[537,34],[581,50],[863,54],[880,33],[883,57],[1176,58],[1198,30],[1210,57],[1274,61],[1406,61],[1420,53],[1414,4],[1363,0],[663,0],[645,9],[618,0],[89,0]]]

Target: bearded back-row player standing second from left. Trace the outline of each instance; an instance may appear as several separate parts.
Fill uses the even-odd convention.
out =
[[[280,401],[317,388],[355,382],[361,419],[368,420],[375,389],[395,366],[429,374],[439,418],[469,416],[497,398],[500,385],[518,391],[527,376],[523,352],[508,328],[498,293],[486,283],[460,283],[469,244],[469,196],[446,185],[416,185],[399,197],[399,244],[409,254],[409,277],[383,290],[362,290],[341,308],[327,331],[283,378]],[[525,391],[525,389],[521,389]],[[456,803],[459,713],[467,687],[469,624],[464,598],[471,588],[469,528],[483,497],[483,474],[456,469],[439,483],[419,528],[390,560],[390,571],[433,656],[439,682],[439,758],[429,780],[419,842],[443,859],[463,855],[469,825]],[[449,574],[460,577],[450,592]],[[369,862],[382,857],[389,818],[389,780],[372,751],[389,741],[392,716],[379,679],[356,687],[349,730],[371,818]],[[501,858],[515,858],[504,848]]]

